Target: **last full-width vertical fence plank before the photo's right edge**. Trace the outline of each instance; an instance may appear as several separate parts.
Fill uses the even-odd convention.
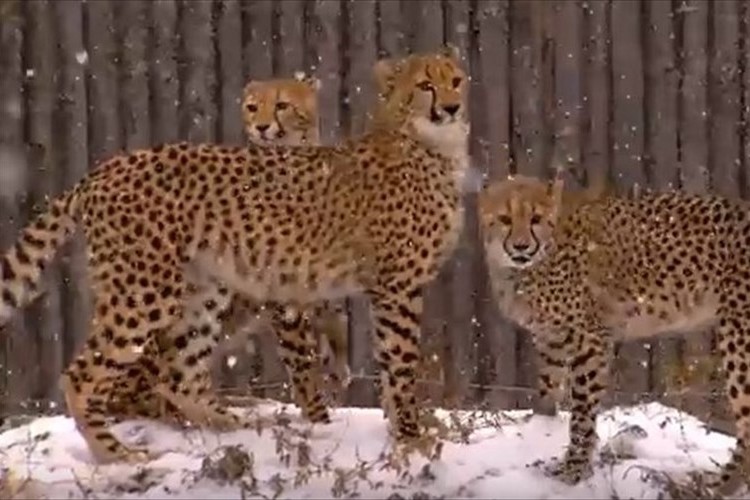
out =
[[[716,0],[713,9],[713,47],[709,71],[711,185],[725,196],[740,195],[739,2]]]

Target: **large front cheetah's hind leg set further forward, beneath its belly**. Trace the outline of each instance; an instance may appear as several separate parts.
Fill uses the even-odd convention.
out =
[[[222,315],[233,293],[213,279],[196,284],[188,294],[182,318],[166,333],[162,357],[166,370],[155,391],[199,427],[235,430],[247,427],[217,399],[211,387],[209,362],[219,342]]]

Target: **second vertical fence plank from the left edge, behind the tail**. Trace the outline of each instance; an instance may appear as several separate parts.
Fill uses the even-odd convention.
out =
[[[28,201],[31,204],[29,218],[46,208],[47,197],[57,194],[58,151],[55,144],[53,113],[57,98],[54,75],[57,70],[56,31],[49,2],[25,4],[28,38],[27,67],[33,75],[27,80],[28,98],[27,142],[31,145],[31,175],[28,176]],[[27,75],[28,75],[27,71]],[[28,219],[27,219],[28,220]],[[22,342],[27,343],[23,351],[17,351],[16,367],[23,374],[23,385],[19,386],[28,396],[53,396],[57,388],[43,381],[53,381],[62,371],[63,323],[60,310],[60,267],[55,262],[42,277],[44,295],[25,311],[27,324],[33,324],[35,334]],[[38,344],[34,345],[35,342]],[[31,363],[29,362],[31,360]],[[16,370],[14,370],[16,371]],[[18,381],[20,382],[20,380]]]

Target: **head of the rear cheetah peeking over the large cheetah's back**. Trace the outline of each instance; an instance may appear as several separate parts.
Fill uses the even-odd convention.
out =
[[[317,143],[319,88],[319,80],[304,73],[294,78],[248,82],[242,97],[242,118],[250,142]]]

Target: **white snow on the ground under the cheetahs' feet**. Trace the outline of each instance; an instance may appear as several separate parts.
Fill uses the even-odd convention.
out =
[[[379,460],[389,449],[379,409],[337,409],[332,424],[314,427],[290,406],[263,403],[260,411],[284,411],[290,427],[309,431],[309,439],[288,430],[278,440],[271,429],[260,436],[212,434],[125,422],[114,427],[124,441],[166,453],[140,466],[95,466],[70,418],[38,418],[0,434],[0,469],[6,471],[0,496],[9,498],[11,490],[18,498],[657,498],[663,486],[649,481],[646,471],[684,480],[687,471],[725,462],[734,444],[657,403],[615,408],[599,417],[600,451],[607,447],[625,458],[606,461],[600,453],[594,476],[568,486],[532,465],[562,453],[566,414],[472,413],[468,443],[446,442],[439,459],[415,456],[406,472],[397,472]],[[448,421],[447,412],[438,415]],[[305,457],[308,467],[298,467]]]

